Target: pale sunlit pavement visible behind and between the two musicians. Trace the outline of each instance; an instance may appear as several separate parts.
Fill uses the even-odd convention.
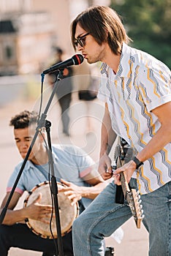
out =
[[[1,106],[0,120],[0,155],[1,155],[1,179],[0,179],[0,200],[4,197],[7,180],[12,173],[13,167],[20,160],[20,155],[15,147],[12,135],[12,127],[9,127],[9,119],[16,113],[24,109],[33,110],[37,108],[37,101],[17,99],[10,104]],[[51,140],[52,143],[73,143],[83,148],[91,157],[98,161],[100,127],[104,112],[104,107],[98,99],[94,102],[88,102],[89,116],[93,129],[88,131],[87,127],[87,107],[85,102],[78,101],[73,95],[70,108],[71,117],[71,138],[64,137],[61,133],[60,108],[56,100],[53,100],[50,110],[47,113],[47,120],[51,121]],[[57,127],[58,130],[57,130]],[[23,197],[18,207],[23,207]],[[115,247],[115,256],[147,256],[148,255],[148,233],[145,227],[140,230],[135,226],[134,220],[130,219],[123,225],[124,236],[121,244],[118,244],[113,238],[107,238],[107,246]],[[9,256],[38,256],[40,252],[31,252],[21,249],[10,249]],[[79,256],[79,255],[78,255]]]

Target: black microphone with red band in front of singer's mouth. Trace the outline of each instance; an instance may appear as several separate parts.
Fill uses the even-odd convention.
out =
[[[53,65],[49,69],[45,69],[43,71],[43,74],[46,75],[50,72],[54,72],[58,69],[64,69],[64,68],[72,66],[72,65],[80,65],[83,62],[83,60],[84,60],[83,55],[75,54],[74,56],[72,56],[71,59],[67,59],[66,61],[62,61],[58,64]]]

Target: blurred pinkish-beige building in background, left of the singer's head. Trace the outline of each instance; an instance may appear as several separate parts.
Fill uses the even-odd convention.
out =
[[[109,0],[1,0],[0,76],[39,73],[53,46],[72,53],[70,23],[80,11]]]

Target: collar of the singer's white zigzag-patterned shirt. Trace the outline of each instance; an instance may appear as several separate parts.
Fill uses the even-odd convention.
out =
[[[126,45],[126,43],[123,42],[121,59],[118,66],[118,70],[116,72],[116,75],[118,75],[119,77],[129,78],[132,71],[131,63],[133,61],[130,59],[130,56],[131,56],[130,48],[128,45]],[[102,75],[105,74],[107,75],[107,78],[108,78],[110,70],[111,68],[106,63],[102,63],[100,68],[100,72]]]

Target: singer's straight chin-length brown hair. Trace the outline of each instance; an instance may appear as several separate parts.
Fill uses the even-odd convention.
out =
[[[126,34],[121,18],[110,7],[90,7],[77,15],[71,26],[74,48],[77,23],[90,33],[99,45],[102,45],[102,42],[108,42],[110,49],[116,55],[121,53],[122,43],[129,43],[131,40]]]

